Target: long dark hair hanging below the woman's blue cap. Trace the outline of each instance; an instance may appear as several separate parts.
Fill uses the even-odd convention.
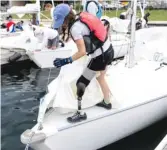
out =
[[[63,41],[68,41],[68,39],[70,38],[70,28],[75,21],[75,17],[76,16],[73,13],[73,11],[70,11],[70,13],[66,16],[64,23],[62,25]],[[67,30],[67,38],[65,40],[66,30]]]

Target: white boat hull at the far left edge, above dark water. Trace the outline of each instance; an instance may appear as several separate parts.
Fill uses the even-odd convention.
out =
[[[18,60],[22,61],[29,59],[26,55],[27,50],[38,49],[38,40],[34,37],[29,25],[25,25],[24,29],[24,31],[14,33],[2,32],[2,38],[0,40],[1,65],[9,63],[9,57],[15,52],[22,55]]]

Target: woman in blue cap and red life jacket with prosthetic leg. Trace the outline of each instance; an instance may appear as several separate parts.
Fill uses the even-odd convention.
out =
[[[55,20],[55,27],[60,28],[64,26],[70,30],[72,39],[77,45],[78,52],[69,58],[56,58],[53,64],[59,68],[73,63],[86,54],[90,54],[91,60],[76,83],[77,96],[82,97],[84,88],[100,72],[100,75],[96,78],[102,89],[104,99],[97,106],[111,109],[112,105],[110,100],[112,99],[112,94],[105,81],[105,74],[106,67],[113,60],[114,51],[107,38],[107,31],[103,23],[96,16],[88,12],[81,12],[79,15],[74,15],[66,4],[56,6],[55,16],[57,18]],[[77,122],[84,119],[86,119],[86,114],[80,111],[72,117],[67,118],[69,122]]]

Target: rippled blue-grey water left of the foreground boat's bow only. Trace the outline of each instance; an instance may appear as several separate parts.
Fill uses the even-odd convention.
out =
[[[24,149],[24,145],[20,143],[20,134],[36,123],[38,98],[45,93],[49,71],[49,69],[38,69],[31,62],[2,68],[3,150]],[[58,69],[52,69],[49,82],[56,78],[58,73]]]

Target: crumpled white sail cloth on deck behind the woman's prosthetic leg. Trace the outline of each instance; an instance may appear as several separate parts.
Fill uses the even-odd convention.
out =
[[[78,101],[76,95],[76,82],[77,79],[81,76],[88,61],[88,57],[85,56],[84,58],[73,62],[73,64],[69,64],[61,68],[60,74],[56,81],[53,81],[48,87],[50,93],[56,92],[52,107],[74,110],[77,109]],[[82,108],[94,106],[102,99],[103,94],[96,78],[94,78],[86,88],[82,100]]]

